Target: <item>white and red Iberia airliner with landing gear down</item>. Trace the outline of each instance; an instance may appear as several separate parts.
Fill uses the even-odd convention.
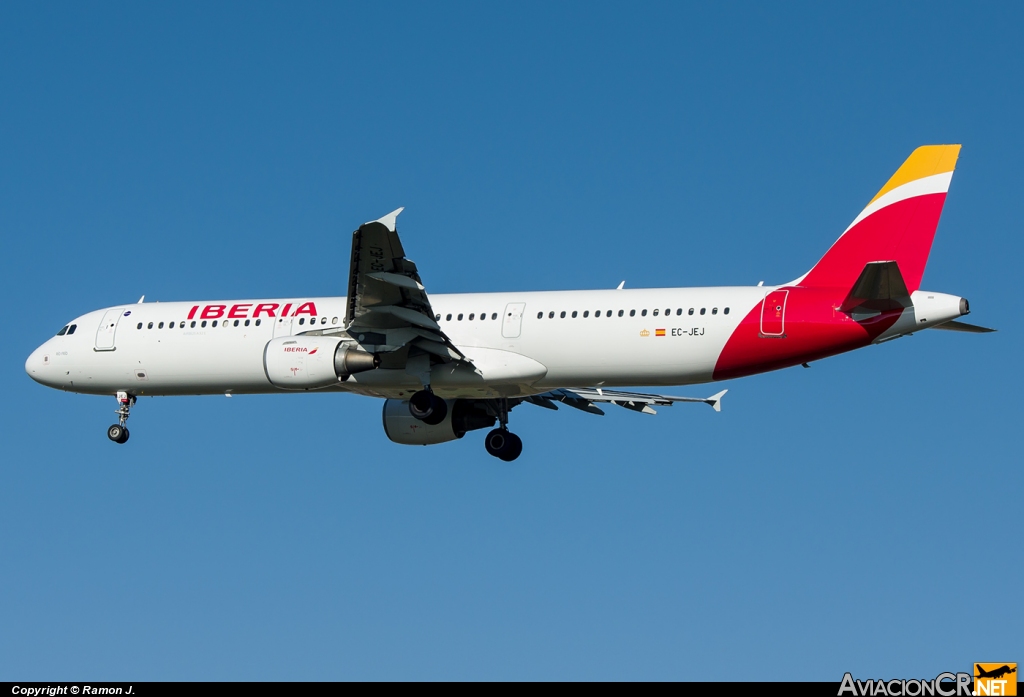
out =
[[[967,299],[921,290],[959,145],[915,149],[807,273],[780,286],[428,296],[398,209],[352,233],[347,295],[117,305],[83,314],[25,368],[68,392],[113,395],[125,443],[138,397],[333,390],[384,399],[387,437],[432,445],[493,429],[514,461],[519,404],[643,413],[707,398],[624,391],[805,365],[958,321]],[[497,425],[497,427],[496,427]]]

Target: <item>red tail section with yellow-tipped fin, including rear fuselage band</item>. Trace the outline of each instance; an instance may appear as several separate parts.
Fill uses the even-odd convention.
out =
[[[892,326],[921,286],[958,154],[915,149],[814,268],[765,289],[723,347],[715,380],[860,348]]]

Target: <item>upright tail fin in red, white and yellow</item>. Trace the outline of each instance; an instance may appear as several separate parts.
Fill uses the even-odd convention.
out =
[[[921,287],[959,145],[922,145],[886,182],[836,244],[795,286],[853,287],[864,266],[895,261],[906,288]]]

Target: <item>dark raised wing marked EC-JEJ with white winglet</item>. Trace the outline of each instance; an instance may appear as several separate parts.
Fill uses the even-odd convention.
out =
[[[345,331],[371,352],[416,347],[443,362],[464,358],[434,319],[416,264],[406,258],[395,224],[402,210],[352,233]]]

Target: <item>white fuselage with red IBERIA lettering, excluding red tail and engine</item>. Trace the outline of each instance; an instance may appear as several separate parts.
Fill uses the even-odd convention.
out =
[[[438,323],[477,372],[435,369],[431,382],[446,397],[711,382],[725,342],[767,290],[434,295]],[[288,314],[296,308],[303,313],[278,316],[286,308]],[[340,330],[345,311],[344,297],[115,306],[75,319],[74,335],[47,341],[26,368],[43,384],[89,394],[283,392],[264,368],[267,343]],[[401,397],[421,386],[410,372],[378,369],[333,389]]]

